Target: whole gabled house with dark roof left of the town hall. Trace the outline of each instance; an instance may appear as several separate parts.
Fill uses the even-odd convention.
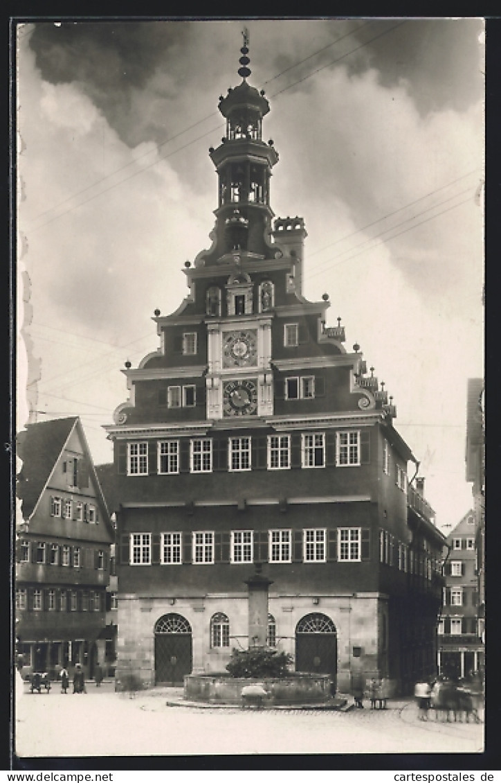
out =
[[[91,676],[106,662],[106,587],[113,528],[77,417],[17,436],[16,648],[23,673]]]

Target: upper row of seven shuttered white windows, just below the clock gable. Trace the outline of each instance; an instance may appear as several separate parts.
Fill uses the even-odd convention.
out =
[[[360,430],[119,443],[118,471],[152,473],[269,471],[292,467],[360,467],[370,461],[370,433]]]

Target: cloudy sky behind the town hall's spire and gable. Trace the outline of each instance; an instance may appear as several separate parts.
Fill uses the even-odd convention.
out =
[[[271,207],[306,222],[303,294],[329,294],[327,326],[341,316],[385,381],[447,533],[472,505],[484,373],[481,19],[18,24],[17,429],[78,415],[95,464],[113,459],[120,370],[156,350],[154,310],[211,244],[243,27],[280,155]]]

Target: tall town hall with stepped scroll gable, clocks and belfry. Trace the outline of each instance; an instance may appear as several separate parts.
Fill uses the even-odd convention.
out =
[[[181,683],[252,646],[248,586],[270,580],[267,642],[295,669],[386,677],[402,691],[436,662],[443,536],[407,482],[417,461],[395,406],[327,294],[302,294],[302,218],[277,218],[263,140],[270,106],[242,83],[220,98],[209,154],[218,206],[184,274],[188,296],[155,312],[159,348],[133,368],[114,413],[117,677]],[[273,222],[272,222],[273,221]],[[153,283],[154,281],[152,281]],[[112,511],[115,511],[113,509]]]

